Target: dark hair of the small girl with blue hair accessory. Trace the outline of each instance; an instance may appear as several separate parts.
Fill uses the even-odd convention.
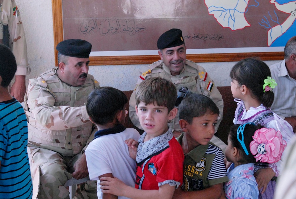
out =
[[[230,132],[229,132],[229,138],[230,138],[232,147],[236,147],[239,150],[239,154],[240,154],[241,158],[238,160],[238,162],[242,163],[242,164],[256,163],[256,159],[250,151],[250,143],[251,143],[251,141],[253,141],[252,136],[254,136],[255,131],[262,128],[262,126],[261,125],[246,124],[244,127],[243,142],[247,148],[247,151],[249,152],[249,155],[246,154],[246,152],[242,148],[242,144],[237,139],[237,129],[239,128],[239,126],[241,126],[241,125],[237,124],[237,125],[231,126]],[[241,134],[239,134],[239,139],[242,140]]]

